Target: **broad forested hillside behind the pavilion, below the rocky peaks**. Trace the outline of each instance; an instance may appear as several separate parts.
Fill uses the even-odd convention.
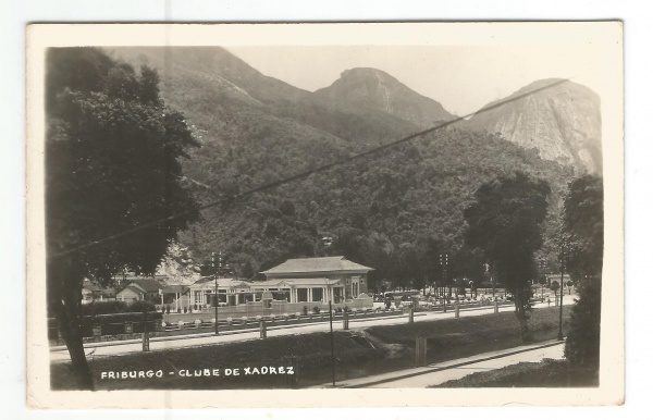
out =
[[[124,48],[113,54],[157,67],[162,97],[201,136],[184,171],[204,202],[420,131],[418,116],[340,103],[333,96],[324,100],[260,74],[223,49],[199,50]],[[244,277],[287,258],[344,255],[374,268],[377,285],[419,285],[438,279],[440,252],[452,256],[454,275],[480,277],[482,259],[463,248],[463,209],[483,182],[517,170],[551,183],[544,255],[553,259],[560,193],[574,169],[497,135],[461,128],[205,210],[180,240],[197,260],[222,251]],[[333,244],[325,246],[323,237]]]

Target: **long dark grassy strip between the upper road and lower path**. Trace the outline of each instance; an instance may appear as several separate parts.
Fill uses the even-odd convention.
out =
[[[557,335],[557,308],[531,312],[529,321],[538,341]],[[567,318],[569,309],[565,308]],[[565,323],[566,325],[566,323]],[[335,331],[336,380],[403,369],[414,363],[416,337],[426,337],[429,362],[467,357],[521,345],[519,323],[513,312],[412,324],[373,326],[365,331]],[[221,390],[305,387],[331,380],[329,333],[311,333],[251,339],[202,347],[89,359],[98,390]],[[293,367],[295,374],[262,374],[262,367]],[[260,373],[245,374],[245,368]],[[210,371],[206,376],[205,369]],[[219,369],[220,375],[212,370]],[[239,375],[225,375],[239,369]],[[180,374],[186,370],[192,378]],[[161,371],[162,378],[102,379],[102,372]],[[198,371],[199,376],[195,376]],[[53,390],[75,388],[70,363],[51,365]]]

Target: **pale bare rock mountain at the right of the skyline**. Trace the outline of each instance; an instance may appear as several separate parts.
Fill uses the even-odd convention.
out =
[[[533,82],[500,101],[556,81]],[[601,100],[594,91],[577,83],[566,82],[477,113],[466,122],[466,127],[501,133],[521,147],[537,148],[544,159],[571,164],[580,171],[602,173]]]

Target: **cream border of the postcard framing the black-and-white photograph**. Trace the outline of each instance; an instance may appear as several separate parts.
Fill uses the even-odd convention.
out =
[[[576,406],[615,405],[624,393],[623,306],[623,67],[621,25],[602,23],[386,23],[259,25],[33,25],[27,37],[28,400],[36,407],[367,407],[367,406]],[[605,177],[606,252],[601,385],[587,390],[321,390],[219,392],[50,392],[45,329],[42,138],[45,50],[61,46],[124,45],[600,45]],[[609,292],[608,292],[609,291]],[[609,297],[609,298],[608,298]],[[397,393],[403,393],[397,398]],[[138,398],[133,396],[138,394]],[[220,406],[214,406],[214,402]]]

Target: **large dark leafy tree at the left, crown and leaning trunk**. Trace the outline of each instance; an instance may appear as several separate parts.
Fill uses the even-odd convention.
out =
[[[99,49],[71,48],[50,49],[47,70],[48,312],[77,386],[91,390],[82,282],[155,272],[177,232],[198,219],[180,162],[198,143],[184,116],[165,108],[151,69],[138,74]]]

